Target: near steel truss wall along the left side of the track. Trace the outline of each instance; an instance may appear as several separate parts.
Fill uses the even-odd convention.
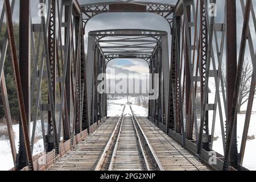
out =
[[[39,2],[46,3],[45,0]],[[2,31],[5,17],[8,30],[1,49],[1,96],[16,169],[22,169],[25,166],[29,169],[35,167],[32,152],[38,117],[41,121],[44,148],[46,152],[52,153],[53,150],[52,154],[56,156],[64,149],[63,142],[60,141],[61,137],[72,145],[76,134],[89,129],[85,86],[84,29],[80,6],[75,0],[49,0],[47,3],[51,6],[46,6],[46,16],[42,14],[41,22],[34,24],[31,22],[30,1],[20,2],[19,67],[11,17],[15,1],[11,1],[11,5],[9,0],[5,1],[1,11],[0,30]],[[65,40],[64,43],[63,40]],[[22,130],[20,130],[18,159],[16,159],[10,107],[3,73],[8,46],[11,48],[21,115],[20,129]],[[31,59],[30,55],[32,55]],[[30,60],[34,67],[31,73]],[[48,83],[47,88],[42,88],[43,82]],[[45,102],[46,96],[42,96],[42,89],[48,89],[48,103]],[[46,113],[48,113],[47,118],[45,118]],[[31,137],[28,135],[30,121],[33,122]]]

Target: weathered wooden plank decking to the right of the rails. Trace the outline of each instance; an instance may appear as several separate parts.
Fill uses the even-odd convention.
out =
[[[167,171],[205,171],[209,170],[195,156],[181,147],[147,118],[138,118],[138,123]]]

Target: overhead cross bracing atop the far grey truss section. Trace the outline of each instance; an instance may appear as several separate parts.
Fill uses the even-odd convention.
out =
[[[89,35],[96,35],[96,42],[106,63],[117,58],[139,58],[149,64],[149,59],[160,44],[164,31],[154,30],[101,30],[91,31]]]

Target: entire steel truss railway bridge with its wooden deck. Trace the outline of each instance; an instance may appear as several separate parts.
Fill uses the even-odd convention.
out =
[[[45,0],[39,2],[46,3]],[[224,8],[221,20],[209,15],[210,3]],[[236,3],[243,14],[238,48]],[[126,144],[127,135],[123,134],[126,130],[132,134],[128,137],[136,138],[134,150],[142,154],[136,161],[143,163],[142,169],[247,170],[242,164],[256,80],[253,1],[178,0],[175,5],[114,1],[82,5],[76,0],[48,0],[46,15],[42,14],[39,23],[32,23],[31,1],[23,0],[19,5],[19,42],[15,42],[13,26],[16,4],[15,0],[4,0],[0,10],[0,30],[5,33],[0,52],[1,97],[13,170],[118,169],[120,166],[113,159],[124,158],[118,148]],[[97,30],[89,32],[88,42],[85,42],[88,21],[98,14],[114,12],[160,15],[170,25],[171,35],[158,30]],[[168,47],[168,37],[171,37],[171,47]],[[87,56],[85,44],[88,44]],[[237,105],[246,46],[254,73],[250,80],[241,148],[238,148]],[[19,55],[16,47],[19,47]],[[18,150],[3,71],[5,61],[9,61],[6,60],[7,49],[20,111]],[[107,118],[106,94],[97,92],[97,76],[105,73],[108,62],[116,58],[143,59],[150,73],[159,73],[156,93],[159,97],[149,101],[147,118],[137,118],[132,109],[130,116]],[[222,63],[226,63],[226,82]],[[208,100],[210,80],[216,85],[214,103]],[[43,82],[47,82],[47,88],[42,88]],[[47,102],[42,96],[43,89],[48,90]],[[220,117],[224,155],[212,156],[216,115]],[[35,121],[38,120],[42,123],[46,152],[33,155]],[[30,122],[33,122],[31,128]],[[166,146],[172,148],[159,153],[157,148],[161,142],[152,138],[154,131],[157,131],[155,138],[164,139]],[[95,140],[100,135],[108,140],[103,143]],[[94,151],[90,141],[99,142],[101,149],[96,156],[88,158],[89,162],[82,163],[81,158],[87,159],[90,155],[81,152]],[[108,150],[111,152],[106,152]],[[168,153],[171,150],[177,152],[173,158],[182,156],[185,163],[172,160]],[[42,158],[44,162],[40,163]],[[210,164],[210,158],[216,163]],[[79,168],[80,160],[84,168]],[[187,163],[191,166],[186,166]]]

